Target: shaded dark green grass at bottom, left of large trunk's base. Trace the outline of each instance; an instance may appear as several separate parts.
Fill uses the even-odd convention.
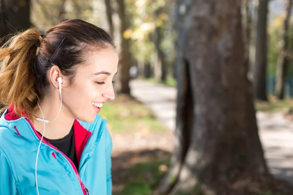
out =
[[[115,195],[151,195],[153,188],[166,174],[170,160],[158,160],[138,163],[126,170],[125,178],[128,178],[124,189],[114,192]]]

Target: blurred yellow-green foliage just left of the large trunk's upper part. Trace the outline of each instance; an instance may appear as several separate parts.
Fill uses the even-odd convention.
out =
[[[160,27],[164,32],[160,47],[167,54],[168,62],[172,62],[175,56],[176,35],[169,16],[173,13],[174,0],[126,0],[126,4],[131,27],[126,30],[124,37],[133,40],[130,50],[136,61],[151,62],[155,49],[152,34],[156,27]]]

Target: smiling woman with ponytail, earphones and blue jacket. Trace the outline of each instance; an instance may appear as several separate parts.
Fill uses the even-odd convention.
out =
[[[110,195],[111,137],[97,113],[115,98],[118,55],[83,20],[0,49],[0,195]]]

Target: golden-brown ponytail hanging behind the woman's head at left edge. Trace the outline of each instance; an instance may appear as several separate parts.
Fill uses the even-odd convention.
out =
[[[38,30],[28,29],[9,39],[0,48],[2,111],[13,105],[19,116],[32,118],[38,101],[33,66],[40,35]]]

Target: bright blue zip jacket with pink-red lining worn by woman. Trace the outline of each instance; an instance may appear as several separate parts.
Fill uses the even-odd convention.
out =
[[[106,120],[75,120],[73,124],[79,170],[57,148],[43,140],[37,178],[40,195],[111,195],[112,141]],[[27,117],[8,108],[0,118],[0,195],[37,195],[35,163],[40,143]]]

